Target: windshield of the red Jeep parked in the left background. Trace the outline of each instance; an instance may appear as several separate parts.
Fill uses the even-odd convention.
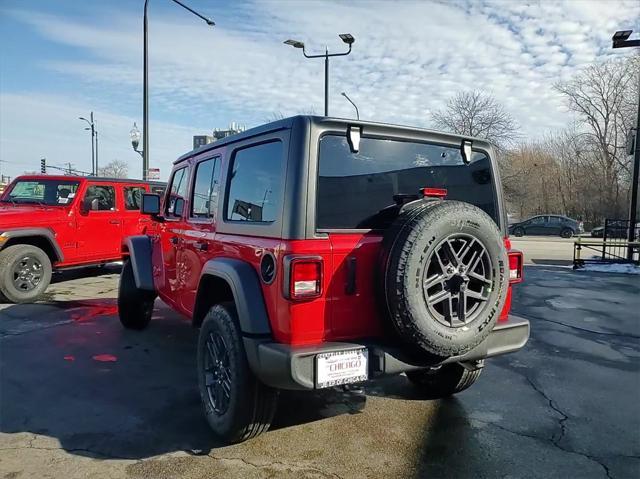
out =
[[[71,180],[18,180],[2,198],[14,204],[68,205],[73,202],[79,181]]]

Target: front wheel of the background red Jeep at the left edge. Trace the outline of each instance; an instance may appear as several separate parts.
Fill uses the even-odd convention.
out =
[[[0,251],[0,297],[10,303],[31,303],[51,282],[51,260],[30,244],[8,246]]]

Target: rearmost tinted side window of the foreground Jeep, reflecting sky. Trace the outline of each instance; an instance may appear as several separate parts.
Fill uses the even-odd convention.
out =
[[[233,157],[225,219],[272,222],[281,210],[282,142],[238,150]]]

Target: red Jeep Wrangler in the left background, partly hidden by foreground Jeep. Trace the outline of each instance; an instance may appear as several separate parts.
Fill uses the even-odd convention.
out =
[[[142,194],[158,189],[136,180],[16,178],[0,196],[0,299],[36,300],[54,268],[119,261],[123,238],[150,223],[140,215]]]

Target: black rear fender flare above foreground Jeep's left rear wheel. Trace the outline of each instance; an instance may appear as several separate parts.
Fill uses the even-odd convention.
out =
[[[239,259],[214,258],[202,267],[201,285],[204,276],[216,276],[229,285],[243,336],[271,336],[260,279],[253,266]]]

